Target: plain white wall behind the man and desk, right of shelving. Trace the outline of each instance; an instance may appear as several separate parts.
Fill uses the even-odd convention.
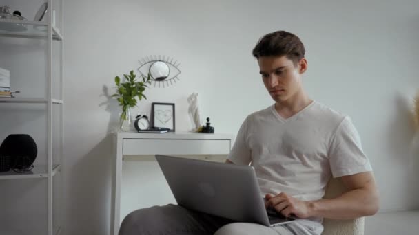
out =
[[[0,4],[1,5],[1,4]],[[272,100],[251,51],[260,36],[294,32],[307,49],[311,98],[352,117],[371,159],[381,210],[419,207],[418,152],[411,147],[410,99],[419,88],[418,1],[65,1],[66,234],[108,234],[110,131],[119,107],[113,78],[144,56],[181,62],[181,82],[146,91],[176,103],[185,131],[187,96],[200,93],[218,133],[236,133]],[[136,111],[134,111],[136,113]],[[140,179],[141,180],[141,179]]]

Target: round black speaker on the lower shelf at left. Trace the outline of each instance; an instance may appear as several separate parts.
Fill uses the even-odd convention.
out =
[[[30,168],[37,158],[37,154],[37,144],[30,135],[26,134],[9,135],[0,146],[0,157],[9,156],[12,169]]]

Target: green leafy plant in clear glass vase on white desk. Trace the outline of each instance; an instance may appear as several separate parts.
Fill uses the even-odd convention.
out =
[[[147,97],[143,94],[147,84],[150,82],[150,74],[147,78],[142,76],[142,81],[136,80],[134,71],[130,71],[130,74],[124,74],[125,82],[121,82],[119,76],[115,77],[116,93],[112,97],[116,98],[119,102],[119,106],[122,107],[122,113],[119,118],[120,126],[122,131],[130,131],[131,126],[131,108],[136,107],[137,101]],[[137,100],[138,98],[138,100]]]

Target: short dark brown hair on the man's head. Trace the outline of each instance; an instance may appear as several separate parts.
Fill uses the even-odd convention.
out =
[[[300,38],[286,31],[276,31],[259,39],[252,54],[256,59],[262,56],[287,56],[294,65],[304,58],[305,49]]]

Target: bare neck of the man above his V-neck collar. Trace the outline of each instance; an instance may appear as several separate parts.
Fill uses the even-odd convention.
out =
[[[311,102],[313,102],[313,100],[311,100],[305,91],[301,89],[288,100],[276,102],[275,109],[279,115],[284,118],[288,118],[303,110],[305,107],[311,104]]]

